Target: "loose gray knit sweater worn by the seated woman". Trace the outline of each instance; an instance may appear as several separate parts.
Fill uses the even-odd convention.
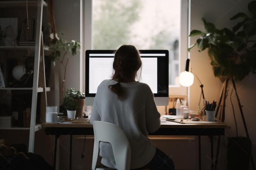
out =
[[[148,132],[155,132],[160,127],[160,114],[147,84],[121,83],[124,95],[118,99],[117,95],[108,88],[109,85],[116,83],[108,79],[99,85],[90,123],[99,120],[120,126],[130,141],[132,150],[130,169],[140,168],[155,155],[156,149],[148,139]],[[100,149],[101,163],[109,168],[117,168],[111,145],[101,142]]]

